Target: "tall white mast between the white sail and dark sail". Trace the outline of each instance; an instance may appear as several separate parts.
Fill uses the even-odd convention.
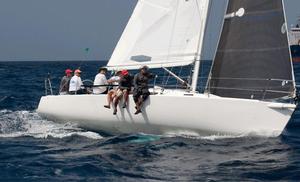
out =
[[[209,5],[210,5],[210,1],[206,0],[206,1],[203,2],[203,7],[200,9],[199,3],[197,1],[199,14],[204,15],[204,16],[200,15],[200,17],[205,17],[205,18],[202,19],[201,23],[200,23],[199,41],[198,41],[198,46],[197,46],[197,53],[195,55],[194,73],[193,73],[192,85],[191,85],[191,91],[192,92],[196,92],[196,90],[197,90],[199,70],[200,70],[200,64],[201,64],[201,52],[202,52],[202,49],[203,49],[204,35],[205,35],[205,32],[206,32],[206,24],[207,24],[207,19],[208,19]]]

